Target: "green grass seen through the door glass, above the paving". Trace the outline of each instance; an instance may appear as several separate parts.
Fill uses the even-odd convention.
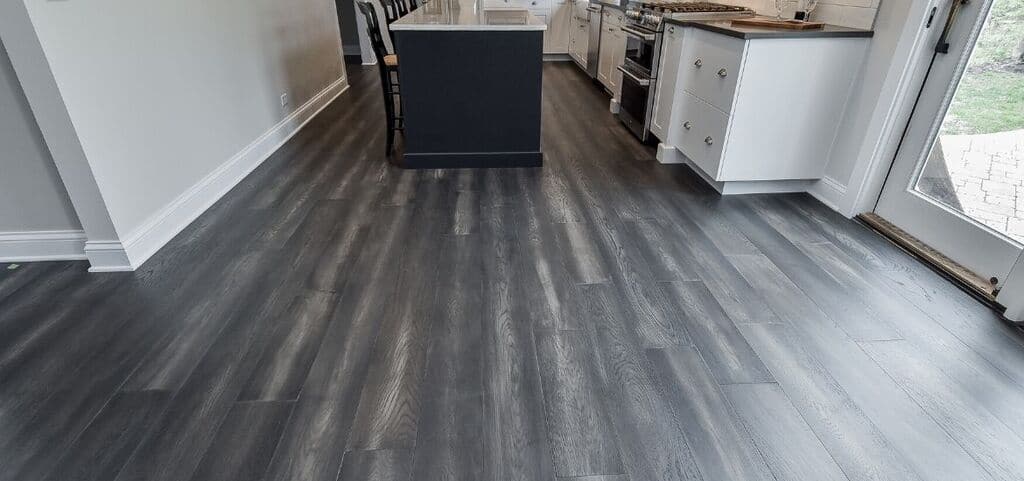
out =
[[[1024,65],[1014,58],[1024,38],[1024,0],[995,0],[943,125],[946,134],[1024,129]]]

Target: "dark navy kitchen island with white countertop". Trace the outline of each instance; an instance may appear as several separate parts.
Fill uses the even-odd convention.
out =
[[[542,165],[542,19],[473,0],[431,0],[390,28],[404,167]]]

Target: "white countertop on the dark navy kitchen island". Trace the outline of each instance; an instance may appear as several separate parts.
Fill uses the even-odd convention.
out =
[[[524,8],[484,8],[482,0],[430,0],[388,26],[400,31],[543,31],[548,26]]]

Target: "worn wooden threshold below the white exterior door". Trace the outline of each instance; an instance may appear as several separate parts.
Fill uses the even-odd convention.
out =
[[[897,227],[873,212],[860,214],[857,216],[857,219],[896,246],[924,261],[933,270],[952,280],[961,289],[978,298],[978,300],[1001,311],[1001,306],[995,302],[995,295],[998,293],[998,290],[992,286],[989,279],[974,273],[971,269],[944,256],[941,252],[932,249],[927,244],[918,239],[918,237],[910,235],[907,231]]]

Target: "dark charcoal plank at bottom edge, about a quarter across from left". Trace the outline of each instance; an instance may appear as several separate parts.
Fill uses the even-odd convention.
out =
[[[231,407],[191,481],[249,481],[266,470],[292,402],[241,402]]]

